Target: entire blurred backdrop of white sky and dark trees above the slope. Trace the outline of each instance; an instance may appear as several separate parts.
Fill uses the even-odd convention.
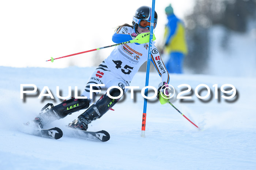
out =
[[[186,25],[185,74],[256,76],[256,0],[156,1],[159,48],[169,3]],[[131,24],[141,5],[152,1],[1,1],[0,66],[97,66],[112,47],[54,63],[45,60],[114,44],[114,28]]]

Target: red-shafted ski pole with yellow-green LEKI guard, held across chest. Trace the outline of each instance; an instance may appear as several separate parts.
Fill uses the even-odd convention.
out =
[[[86,52],[101,50],[101,49],[103,49],[103,48],[119,46],[119,45],[127,44],[127,43],[139,43],[139,44],[148,43],[148,42],[149,42],[149,36],[150,36],[150,33],[149,33],[149,32],[140,33],[138,36],[135,37],[134,40],[130,40],[130,41],[126,41],[126,42],[118,43],[118,44],[113,44],[113,45],[106,46],[106,47],[95,48],[95,49],[93,49],[93,50],[78,52],[78,53],[75,53],[75,54],[70,54],[70,55],[66,55],[66,56],[63,56],[63,57],[55,58],[55,59],[51,57],[51,59],[50,59],[50,60],[46,60],[46,62],[51,61],[51,62],[53,63],[53,61],[54,61],[54,60],[57,60],[57,59],[61,59],[61,58],[65,58],[65,57],[70,57],[70,56],[74,56],[74,55],[78,55],[78,54],[83,54],[83,53],[86,53]],[[156,39],[156,38],[155,38],[155,36],[153,35],[153,41],[154,41],[155,39]]]

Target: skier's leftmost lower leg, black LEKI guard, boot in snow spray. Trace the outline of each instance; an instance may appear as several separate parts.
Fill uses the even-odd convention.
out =
[[[73,112],[86,109],[90,105],[88,99],[75,99],[64,100],[64,102],[53,106],[52,103],[46,104],[39,115],[33,120],[33,122],[40,128],[43,128],[46,124],[53,122],[54,120],[65,118],[67,115]],[[48,108],[50,106],[50,108]],[[45,112],[44,112],[45,111]]]

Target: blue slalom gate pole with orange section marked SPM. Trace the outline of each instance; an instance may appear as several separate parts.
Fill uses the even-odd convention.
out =
[[[151,21],[150,21],[150,37],[149,37],[145,87],[148,86],[148,79],[149,79],[150,59],[151,59],[151,51],[152,51],[152,39],[153,39],[153,30],[154,30],[154,19],[155,19],[155,0],[152,0]],[[148,88],[145,89],[145,96],[147,96],[147,95],[148,95]],[[145,137],[146,115],[147,115],[147,99],[144,98],[141,137]]]

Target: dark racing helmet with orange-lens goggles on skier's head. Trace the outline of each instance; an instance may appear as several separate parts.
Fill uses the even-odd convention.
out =
[[[132,20],[132,26],[135,33],[138,33],[138,26],[141,28],[148,28],[150,30],[150,21],[151,21],[151,8],[148,6],[139,7]],[[154,29],[157,26],[157,12],[155,12],[154,17]]]

